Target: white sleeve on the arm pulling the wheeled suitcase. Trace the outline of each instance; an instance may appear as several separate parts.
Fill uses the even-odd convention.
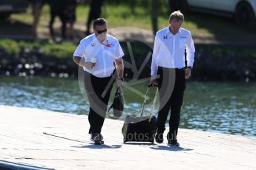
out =
[[[159,55],[160,51],[160,38],[158,35],[154,38],[154,50],[152,55],[152,61],[151,61],[151,76],[157,75],[157,56]]]

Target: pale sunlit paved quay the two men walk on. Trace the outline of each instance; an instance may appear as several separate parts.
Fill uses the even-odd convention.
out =
[[[85,115],[13,106],[0,106],[0,112],[0,160],[12,163],[48,169],[256,169],[252,137],[180,129],[177,148],[166,140],[124,144],[123,122],[106,119],[105,145],[94,146]]]

